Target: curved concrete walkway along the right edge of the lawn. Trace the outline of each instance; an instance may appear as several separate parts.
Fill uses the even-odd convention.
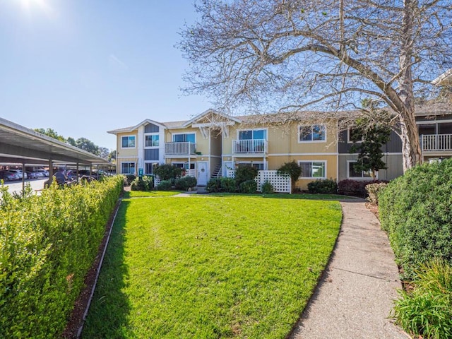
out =
[[[341,203],[331,261],[291,339],[407,339],[388,319],[401,288],[379,220],[363,202]]]

